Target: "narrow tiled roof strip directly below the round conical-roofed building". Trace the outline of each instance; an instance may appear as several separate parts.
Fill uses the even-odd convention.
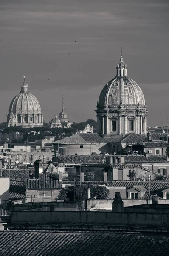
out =
[[[59,156],[52,159],[53,163],[101,163],[101,156]]]

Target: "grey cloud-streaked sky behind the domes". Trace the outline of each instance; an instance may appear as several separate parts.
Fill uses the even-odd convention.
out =
[[[168,0],[0,0],[0,122],[23,76],[46,122],[65,112],[96,120],[121,47],[127,75],[141,87],[147,125],[169,117]]]

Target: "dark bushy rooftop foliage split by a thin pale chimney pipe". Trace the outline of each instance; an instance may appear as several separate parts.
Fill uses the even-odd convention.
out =
[[[58,200],[80,201],[87,199],[88,184],[65,186],[61,189]],[[82,191],[82,192],[81,192]],[[104,186],[90,185],[90,199],[106,199],[109,196],[109,190]]]

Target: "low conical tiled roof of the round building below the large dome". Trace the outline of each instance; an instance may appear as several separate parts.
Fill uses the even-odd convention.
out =
[[[54,142],[59,143],[59,144],[96,144],[96,143],[101,143],[101,144],[106,144],[107,141],[101,137],[99,134],[75,134],[70,137],[66,137],[62,140],[57,140]]]

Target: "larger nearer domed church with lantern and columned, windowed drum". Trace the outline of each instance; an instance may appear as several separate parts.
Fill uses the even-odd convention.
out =
[[[104,86],[99,96],[97,132],[102,135],[146,134],[146,101],[138,84],[127,76],[122,50],[116,70],[115,78]]]

